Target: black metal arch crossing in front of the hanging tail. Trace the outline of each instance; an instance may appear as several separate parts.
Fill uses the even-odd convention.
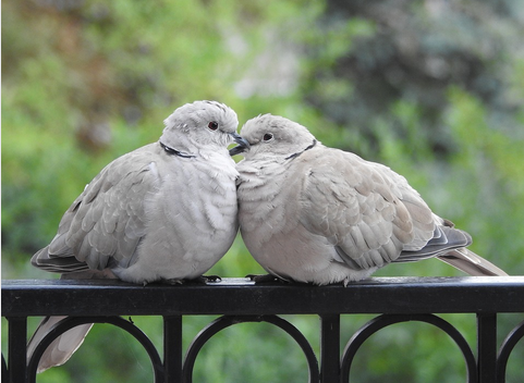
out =
[[[155,382],[163,382],[163,365],[158,355],[158,351],[151,341],[147,337],[141,329],[134,325],[131,321],[126,321],[121,317],[68,317],[51,328],[48,334],[36,346],[35,351],[27,365],[28,382],[35,382],[36,370],[38,362],[46,348],[60,335],[66,331],[87,323],[109,323],[115,325],[122,330],[125,330],[129,334],[133,335],[137,339],[144,349],[147,351],[149,359],[151,360]]]

